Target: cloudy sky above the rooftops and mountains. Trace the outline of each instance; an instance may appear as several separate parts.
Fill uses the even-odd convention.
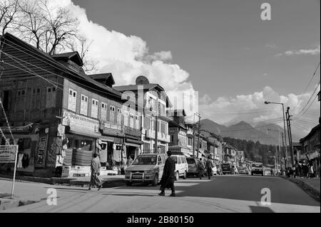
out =
[[[264,2],[271,6],[270,21],[260,17]],[[295,117],[309,107],[294,122],[295,130],[306,133],[317,124],[320,102],[306,104],[320,80],[320,68],[312,78],[320,63],[320,1],[51,3],[77,16],[93,41],[88,55],[98,60],[101,73],[113,73],[116,85],[145,75],[169,95],[198,97],[202,118],[220,124],[275,120],[282,125],[280,105],[264,105],[265,100],[284,102]]]

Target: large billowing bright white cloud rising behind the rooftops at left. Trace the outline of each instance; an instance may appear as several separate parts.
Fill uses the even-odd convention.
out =
[[[161,85],[170,99],[183,97],[186,93],[193,98],[198,97],[192,83],[188,81],[188,72],[177,64],[169,63],[173,58],[170,51],[149,53],[147,43],[142,38],[110,31],[89,21],[86,10],[71,0],[51,0],[51,4],[70,9],[78,18],[81,33],[93,41],[88,56],[98,62],[100,73],[113,73],[116,85],[134,84],[138,75],[145,75],[150,83]],[[178,104],[182,103],[183,100],[178,99]]]

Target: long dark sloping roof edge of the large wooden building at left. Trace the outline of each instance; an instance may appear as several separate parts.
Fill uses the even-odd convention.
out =
[[[98,90],[101,91],[102,93],[108,93],[110,95],[116,96],[117,98],[121,98],[121,93],[119,93],[117,90],[114,90],[113,88],[103,85],[97,82],[96,80],[93,80],[93,78],[91,78],[89,75],[86,75],[85,73],[79,73],[71,68],[68,68],[66,65],[59,63],[55,58],[50,56],[48,53],[44,53],[43,51],[40,51],[39,49],[35,48],[34,46],[31,46],[29,43],[26,43],[25,41],[22,41],[16,36],[11,35],[10,33],[6,33],[4,34],[4,38],[13,41],[19,46],[24,46],[24,48],[29,49],[29,51],[38,53],[43,58],[41,60],[48,60],[51,65],[54,65],[54,67],[59,68],[63,72],[68,72],[68,74],[71,75],[73,78],[80,78],[81,80],[84,80],[87,83],[91,83],[91,85],[98,88]],[[75,80],[71,80],[71,81],[73,81],[74,83],[78,83]],[[93,89],[96,89],[96,88],[93,88]]]

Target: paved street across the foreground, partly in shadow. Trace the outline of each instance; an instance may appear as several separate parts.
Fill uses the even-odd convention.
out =
[[[22,183],[21,183],[22,184]],[[51,185],[42,184],[43,190]],[[57,206],[46,201],[10,209],[7,212],[318,212],[320,203],[286,179],[272,176],[213,176],[180,179],[176,197],[158,196],[158,186],[137,184],[92,189],[54,186]],[[271,192],[271,204],[260,203],[261,189]],[[167,195],[170,191],[165,191]],[[46,193],[44,193],[45,195]]]

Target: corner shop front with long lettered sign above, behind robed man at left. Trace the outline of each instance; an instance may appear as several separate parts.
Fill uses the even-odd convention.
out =
[[[63,110],[61,154],[57,155],[62,163],[63,177],[90,176],[91,159],[96,152],[96,142],[101,138],[98,132],[99,121]]]

